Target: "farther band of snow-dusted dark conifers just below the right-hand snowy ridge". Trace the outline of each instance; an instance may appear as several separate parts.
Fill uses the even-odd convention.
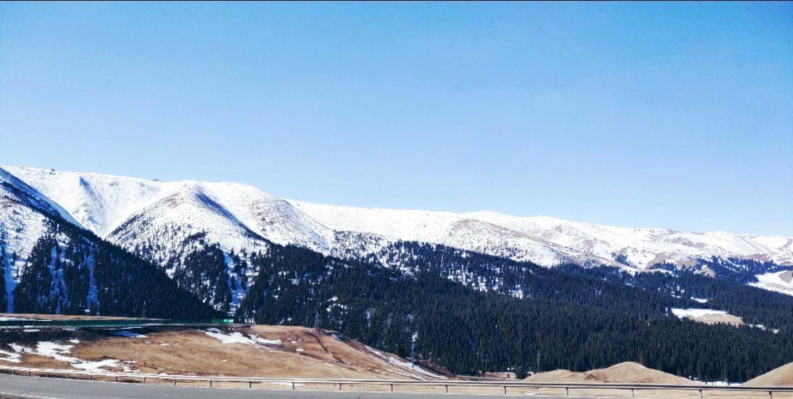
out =
[[[793,297],[790,295],[691,271],[630,273],[616,267],[574,264],[548,268],[416,242],[389,244],[368,260],[378,259],[385,259],[385,264],[394,269],[412,274],[427,271],[475,290],[573,301],[641,316],[668,314],[670,308],[721,309],[743,317],[748,324],[763,324],[793,333]],[[718,259],[710,262],[718,263]],[[752,266],[760,267],[758,270],[771,267],[755,261],[745,265]],[[692,297],[707,299],[707,302],[693,301]]]

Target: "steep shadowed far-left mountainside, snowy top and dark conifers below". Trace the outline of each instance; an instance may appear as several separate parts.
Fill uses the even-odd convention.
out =
[[[174,318],[214,312],[149,263],[83,230],[0,169],[0,308]]]

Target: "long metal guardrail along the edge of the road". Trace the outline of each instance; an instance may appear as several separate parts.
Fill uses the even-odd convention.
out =
[[[89,380],[94,377],[113,378],[113,381],[118,381],[119,378],[126,378],[137,380],[140,383],[146,383],[147,380],[166,380],[172,381],[174,386],[177,382],[206,382],[207,386],[212,387],[215,382],[241,382],[247,383],[248,388],[252,388],[253,384],[261,383],[279,383],[285,386],[291,385],[292,389],[296,386],[305,384],[328,384],[338,387],[338,390],[343,390],[343,386],[359,386],[359,385],[373,385],[373,386],[390,386],[393,391],[394,386],[443,386],[446,388],[446,393],[449,392],[449,387],[498,387],[504,389],[504,394],[507,394],[508,388],[556,388],[565,389],[565,394],[570,396],[571,389],[630,389],[631,397],[634,397],[637,390],[680,390],[680,391],[699,391],[699,397],[703,397],[703,393],[707,391],[728,391],[728,392],[768,392],[768,397],[773,398],[774,393],[793,393],[793,386],[707,386],[707,385],[673,385],[673,384],[630,384],[630,383],[592,383],[592,382],[523,382],[523,381],[469,381],[469,380],[374,380],[374,379],[312,379],[312,378],[259,378],[259,377],[205,377],[196,375],[173,375],[173,374],[141,374],[141,373],[113,373],[109,371],[86,371],[86,370],[55,370],[55,369],[36,369],[28,367],[15,367],[15,366],[0,366],[0,372],[6,371],[14,375],[27,375],[44,377],[61,376],[71,378],[71,376],[87,376]]]

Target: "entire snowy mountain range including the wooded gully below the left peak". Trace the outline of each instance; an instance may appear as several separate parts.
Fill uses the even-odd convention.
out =
[[[82,227],[163,267],[180,286],[229,313],[247,295],[257,273],[250,267],[251,256],[266,252],[270,243],[367,259],[407,272],[410,267],[405,267],[400,248],[424,243],[546,267],[576,263],[631,271],[694,270],[767,289],[778,285],[757,276],[793,267],[793,239],[787,237],[621,228],[495,212],[320,205],[275,198],[232,182],[6,169],[63,206],[63,213]],[[450,275],[465,274],[443,269]],[[481,271],[458,279],[481,284],[492,281],[491,274]],[[519,293],[516,286],[502,288]]]

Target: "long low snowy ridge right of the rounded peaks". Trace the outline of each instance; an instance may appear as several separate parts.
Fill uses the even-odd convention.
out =
[[[658,263],[686,266],[712,256],[793,264],[793,239],[787,237],[622,228],[496,212],[427,212],[289,202],[335,230],[444,244],[543,266],[570,261],[647,269]]]

